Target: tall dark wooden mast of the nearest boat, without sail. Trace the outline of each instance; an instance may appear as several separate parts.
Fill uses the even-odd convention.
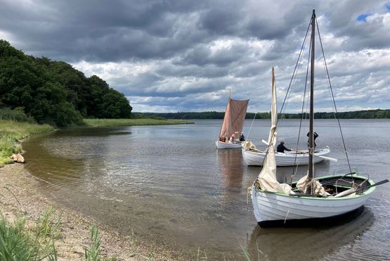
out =
[[[313,15],[311,15],[311,73],[310,73],[310,115],[309,115],[309,134],[308,134],[308,180],[313,179],[314,176],[314,164],[313,164],[313,153],[314,153],[314,139],[313,139],[313,108],[314,108],[314,39],[316,28],[316,13],[313,9]],[[311,193],[311,186],[308,189],[308,193]]]

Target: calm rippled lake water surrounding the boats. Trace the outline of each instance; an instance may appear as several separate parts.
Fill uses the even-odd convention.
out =
[[[375,182],[388,179],[390,120],[341,123],[351,166]],[[298,126],[298,120],[280,121],[278,139],[294,147]],[[260,141],[269,127],[269,120],[247,120],[244,132],[264,148]],[[356,219],[332,227],[261,229],[247,204],[247,187],[260,167],[247,167],[239,149],[216,150],[220,128],[221,120],[195,120],[61,129],[23,143],[25,166],[46,181],[42,189],[58,203],[175,250],[178,259],[245,260],[242,249],[252,260],[389,259],[389,183],[377,187]],[[316,132],[317,146],[330,146],[330,157],[339,159],[317,164],[316,174],[349,172],[337,122],[316,120]],[[307,127],[302,133],[305,148]],[[280,181],[290,180],[291,167],[279,170]]]

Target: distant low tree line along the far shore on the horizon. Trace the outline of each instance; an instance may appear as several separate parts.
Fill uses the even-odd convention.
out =
[[[225,113],[216,111],[207,111],[202,113],[133,113],[133,117],[162,117],[166,119],[223,119]],[[304,114],[308,118],[308,115]],[[316,119],[334,119],[334,113],[314,113]],[[282,113],[278,115],[279,118],[285,119],[300,119],[301,113]],[[358,110],[345,113],[336,113],[338,119],[390,119],[390,110]],[[269,113],[247,113],[246,119],[271,119],[271,112]]]

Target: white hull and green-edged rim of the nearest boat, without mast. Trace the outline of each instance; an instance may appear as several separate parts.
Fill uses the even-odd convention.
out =
[[[373,185],[372,180],[358,175],[327,176],[316,178],[324,185],[325,190],[340,193],[351,189],[351,182],[355,185],[362,184],[362,188]],[[297,182],[292,184],[293,191]],[[326,185],[329,184],[329,185]],[[311,222],[311,224],[327,218],[334,219],[342,217],[349,212],[357,210],[365,204],[370,198],[370,194],[375,190],[375,186],[371,186],[367,191],[361,194],[351,193],[344,197],[328,197],[320,198],[312,195],[286,195],[285,193],[274,193],[259,189],[257,186],[252,186],[252,205],[254,208],[254,216],[261,227],[272,225],[287,225],[300,224],[303,222]]]

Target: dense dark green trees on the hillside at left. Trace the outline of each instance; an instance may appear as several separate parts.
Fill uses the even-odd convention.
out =
[[[85,77],[68,63],[26,56],[4,40],[0,108],[58,127],[82,125],[83,117],[129,118],[132,109],[124,94],[96,75]]]

